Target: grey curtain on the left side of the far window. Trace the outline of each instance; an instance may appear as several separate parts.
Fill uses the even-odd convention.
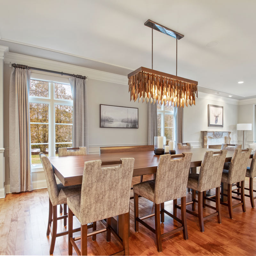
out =
[[[157,136],[157,104],[148,102],[148,145],[154,145]]]

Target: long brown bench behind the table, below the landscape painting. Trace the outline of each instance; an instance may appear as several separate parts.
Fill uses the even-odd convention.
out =
[[[120,146],[120,147],[100,147],[100,154],[119,153],[119,152],[139,152],[139,151],[153,151],[154,145],[145,146]],[[143,181],[143,175],[140,175],[140,182]],[[133,189],[133,188],[131,188]],[[130,199],[133,199],[131,196]]]

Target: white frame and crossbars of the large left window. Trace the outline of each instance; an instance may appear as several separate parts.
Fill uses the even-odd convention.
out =
[[[56,77],[57,78],[57,77]],[[59,123],[55,123],[55,106],[56,105],[65,105],[73,107],[73,100],[61,100],[55,99],[55,84],[65,84],[70,85],[69,83],[57,82],[57,81],[49,81],[47,79],[38,79],[38,78],[30,78],[30,80],[42,81],[48,83],[48,97],[35,97],[29,96],[29,103],[43,103],[48,104],[48,123],[34,123],[30,124],[48,124],[48,143],[31,143],[31,145],[43,145],[48,144],[48,154],[49,156],[55,156],[55,144],[70,144],[72,146],[72,142],[55,142],[55,125]],[[73,125],[73,124],[62,124],[61,125]],[[31,164],[31,172],[41,172],[43,170],[42,165],[32,166]]]

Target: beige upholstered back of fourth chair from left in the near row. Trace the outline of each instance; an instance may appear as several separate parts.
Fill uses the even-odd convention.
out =
[[[235,149],[228,170],[228,184],[233,184],[245,179],[247,163],[250,158],[252,148],[242,151],[241,148]]]

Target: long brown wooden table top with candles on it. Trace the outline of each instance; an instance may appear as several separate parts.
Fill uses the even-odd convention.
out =
[[[206,151],[220,151],[219,149],[209,148],[192,148],[192,149],[177,149],[176,154],[182,152],[192,152],[190,167],[200,166],[204,153]],[[228,151],[226,162],[231,160],[234,151]],[[252,157],[253,154],[251,154]],[[91,160],[102,161],[102,165],[119,164],[120,158],[133,157],[135,159],[133,176],[156,173],[159,156],[154,154],[154,151],[141,152],[120,152],[107,154],[93,154],[82,156],[55,156],[49,157],[53,166],[54,173],[64,186],[82,184],[84,162]]]

